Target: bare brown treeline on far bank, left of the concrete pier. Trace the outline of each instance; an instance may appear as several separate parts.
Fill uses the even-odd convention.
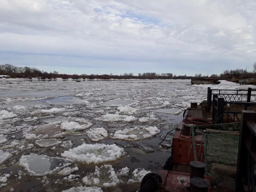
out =
[[[12,78],[20,77],[20,78],[32,78],[32,77],[41,77],[42,79],[54,79],[54,78],[62,78],[62,79],[190,79],[191,76],[176,76],[172,73],[139,73],[137,76],[133,75],[133,73],[124,73],[123,75],[98,75],[98,74],[82,74],[82,75],[67,75],[67,74],[59,74],[57,71],[46,72],[41,71],[37,68],[30,67],[18,67],[10,64],[0,65],[0,75],[9,75]]]

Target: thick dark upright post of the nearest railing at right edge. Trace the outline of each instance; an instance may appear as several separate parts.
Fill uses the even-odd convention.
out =
[[[248,157],[248,150],[246,147],[245,140],[248,137],[250,138],[252,134],[247,126],[247,121],[249,120],[255,121],[255,119],[256,119],[255,111],[242,110],[239,146],[238,146],[238,155],[237,155],[237,167],[236,167],[236,192],[244,191],[244,186],[242,183],[243,179],[245,179],[247,182],[249,180],[247,175],[247,171],[248,171],[247,168],[250,165],[247,162],[250,162],[250,159]]]

